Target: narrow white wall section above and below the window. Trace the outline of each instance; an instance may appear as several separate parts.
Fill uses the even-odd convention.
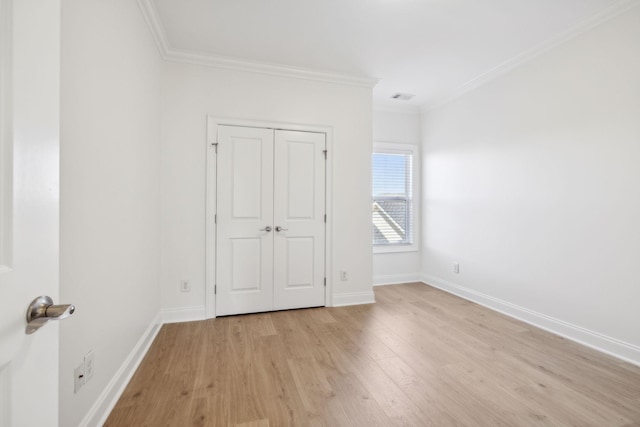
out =
[[[420,114],[413,111],[374,109],[373,140],[420,146]],[[420,159],[416,159],[419,167]],[[415,183],[415,197],[420,197],[420,183]],[[415,217],[420,230],[421,218]],[[419,240],[420,236],[416,236]],[[417,251],[373,254],[373,283],[393,284],[415,282],[421,279],[421,254]]]

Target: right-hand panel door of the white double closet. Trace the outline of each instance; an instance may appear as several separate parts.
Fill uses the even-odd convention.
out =
[[[276,131],[274,308],[325,305],[325,135]]]

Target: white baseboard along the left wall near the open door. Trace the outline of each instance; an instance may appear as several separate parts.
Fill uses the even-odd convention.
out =
[[[102,391],[96,402],[93,404],[87,415],[82,419],[79,427],[101,426],[107,420],[107,417],[116,406],[118,399],[124,392],[125,387],[129,384],[129,380],[138,369],[140,362],[147,354],[151,343],[160,331],[162,326],[160,314],[151,321],[147,330],[142,334],[135,347],[131,350],[124,363],[116,371],[115,375],[109,381],[109,384]]]

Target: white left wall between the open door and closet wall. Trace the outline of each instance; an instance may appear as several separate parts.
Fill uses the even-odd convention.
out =
[[[136,2],[63,0],[60,425],[76,426],[160,310],[160,58]],[[94,377],[73,369],[94,351]]]

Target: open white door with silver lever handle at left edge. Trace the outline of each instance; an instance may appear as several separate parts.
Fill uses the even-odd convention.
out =
[[[0,426],[58,425],[60,2],[0,0]]]

